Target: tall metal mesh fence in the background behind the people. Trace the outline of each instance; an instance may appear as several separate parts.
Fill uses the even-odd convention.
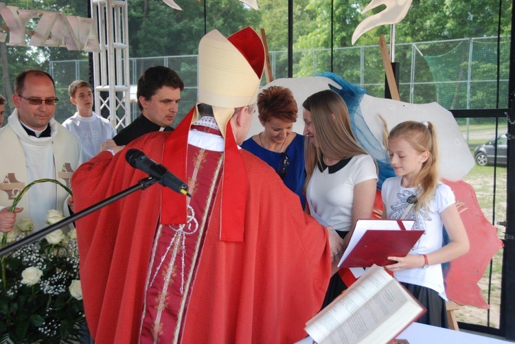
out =
[[[401,99],[412,103],[439,102],[447,108],[507,107],[510,36],[501,37],[499,41],[499,82],[496,69],[497,45],[497,37],[396,44],[396,62],[399,62],[401,71]],[[459,54],[456,54],[458,49]],[[273,77],[286,78],[287,51],[270,51],[269,54]],[[293,61],[295,77],[313,76],[331,69],[331,51],[295,50]],[[332,62],[334,73],[343,79],[361,84],[369,95],[384,96],[385,73],[378,45],[335,48]],[[181,95],[181,108],[177,118],[180,120],[196,102],[196,55],[130,58],[131,115],[133,118],[138,115],[135,86],[137,79],[145,69],[155,65],[174,69],[184,81],[185,91]],[[49,62],[49,71],[56,78],[58,98],[68,98],[66,90],[73,80],[89,80],[88,66],[87,60]],[[457,73],[450,73],[448,70]],[[501,95],[500,98],[497,98],[498,94]],[[449,97],[453,102],[446,101]],[[457,107],[453,107],[453,104]],[[56,117],[62,121],[74,111],[71,104],[60,104]]]

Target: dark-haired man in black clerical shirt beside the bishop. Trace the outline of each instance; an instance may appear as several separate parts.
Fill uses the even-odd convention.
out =
[[[137,100],[141,115],[120,130],[113,140],[117,146],[158,130],[173,130],[170,126],[179,111],[184,83],[172,69],[150,67],[138,80]]]

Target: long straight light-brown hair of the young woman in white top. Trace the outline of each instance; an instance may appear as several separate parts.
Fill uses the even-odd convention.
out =
[[[306,156],[306,185],[313,170],[321,161],[321,155],[329,159],[348,159],[356,155],[368,154],[352,132],[349,110],[340,95],[332,90],[314,93],[302,106],[311,113],[318,147],[310,140],[304,143]]]

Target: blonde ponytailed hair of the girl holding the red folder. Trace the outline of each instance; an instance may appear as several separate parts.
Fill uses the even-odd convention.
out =
[[[418,210],[428,203],[435,194],[438,184],[438,150],[435,128],[431,122],[407,121],[397,124],[389,133],[391,139],[404,139],[417,152],[429,152],[429,157],[422,163],[422,170],[415,177],[418,188]]]

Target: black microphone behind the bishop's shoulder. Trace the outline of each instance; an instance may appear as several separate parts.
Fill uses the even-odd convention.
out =
[[[131,148],[125,154],[125,159],[129,165],[133,166],[137,170],[141,170],[146,174],[154,177],[159,183],[165,187],[168,187],[174,192],[184,194],[186,196],[192,196],[187,193],[187,184],[177,178],[172,172],[168,171],[163,165],[153,161],[145,155],[141,150]]]

